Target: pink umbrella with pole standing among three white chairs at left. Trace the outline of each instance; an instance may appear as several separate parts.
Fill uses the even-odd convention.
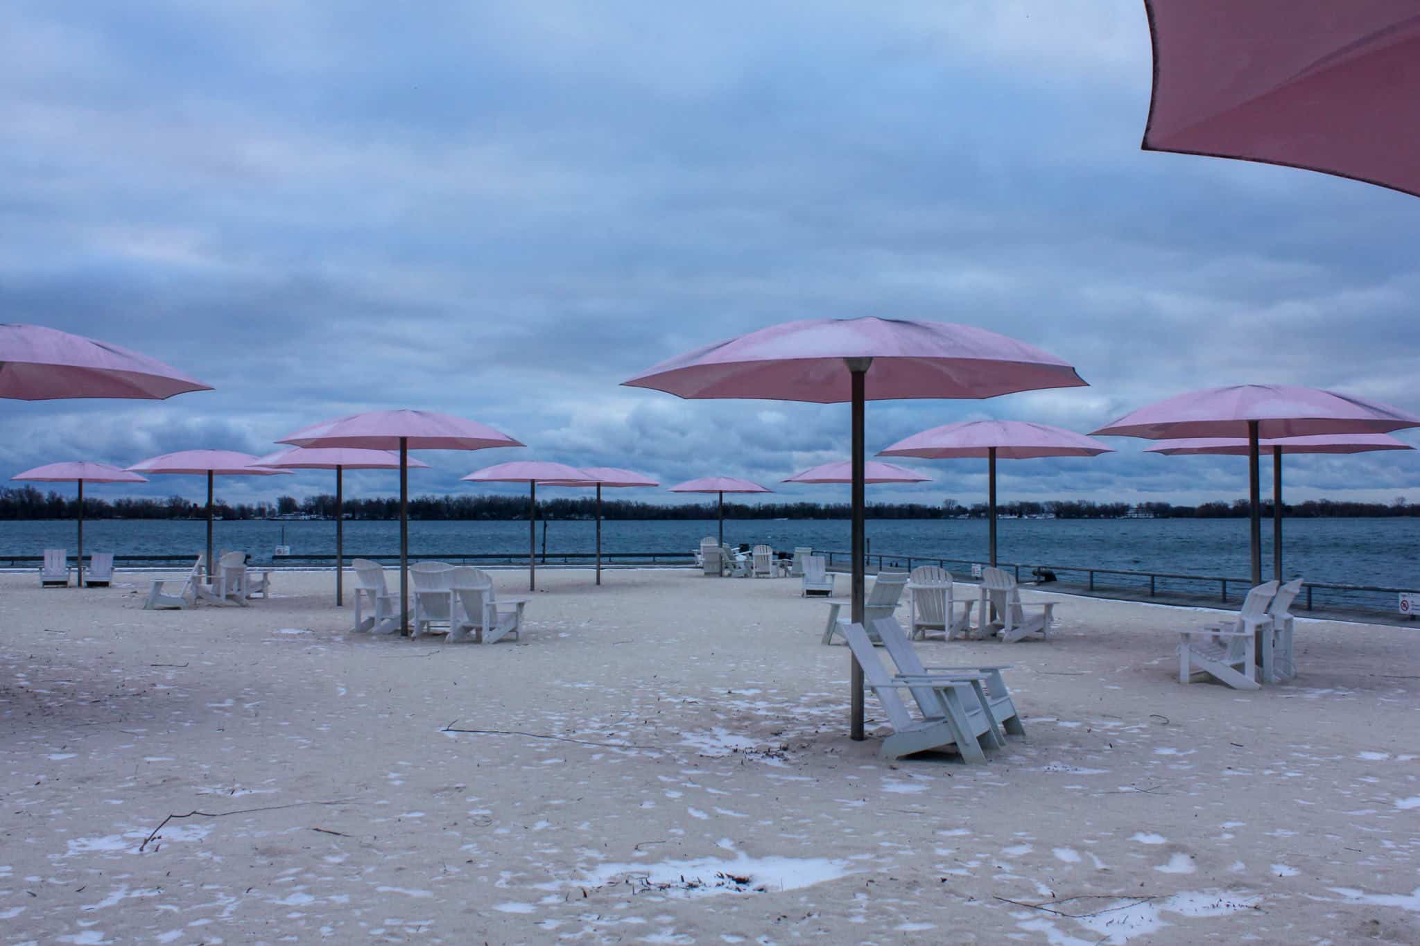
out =
[[[382,410],[304,427],[275,443],[399,451],[399,628],[409,634],[409,451],[521,447],[477,421],[422,410]]]

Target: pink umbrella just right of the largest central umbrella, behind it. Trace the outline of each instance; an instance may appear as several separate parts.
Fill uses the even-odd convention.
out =
[[[995,564],[995,461],[1037,460],[1041,457],[1098,457],[1112,448],[1064,427],[1025,420],[968,420],[943,424],[899,440],[879,457],[923,457],[951,460],[961,457],[987,461],[987,530],[991,564]]]

